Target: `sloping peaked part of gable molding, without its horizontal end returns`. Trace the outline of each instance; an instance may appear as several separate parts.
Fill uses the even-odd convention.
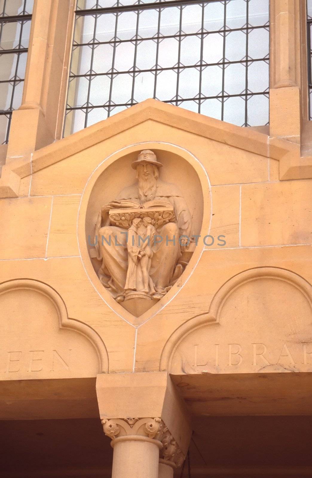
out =
[[[267,157],[268,136],[250,128],[243,128],[225,121],[194,113],[156,99],[146,99],[142,103],[125,109],[120,113],[78,131],[60,141],[33,153],[33,173],[62,161],[73,154],[108,140],[116,134],[129,130],[147,120],[166,124],[178,130],[225,143],[245,151]],[[271,157],[279,159],[285,154],[284,144],[272,148]]]

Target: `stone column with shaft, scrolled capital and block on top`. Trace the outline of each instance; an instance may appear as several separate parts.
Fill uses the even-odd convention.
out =
[[[191,428],[167,372],[101,374],[96,388],[114,450],[112,478],[172,478],[185,459]]]

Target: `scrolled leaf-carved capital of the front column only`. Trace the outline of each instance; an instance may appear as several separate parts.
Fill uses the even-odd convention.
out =
[[[145,437],[147,440],[156,440],[159,442],[159,448],[162,448],[160,438],[164,429],[164,422],[161,418],[113,418],[111,420],[101,420],[104,433],[111,440],[122,437],[134,439],[134,436]],[[111,444],[113,446],[113,444]]]

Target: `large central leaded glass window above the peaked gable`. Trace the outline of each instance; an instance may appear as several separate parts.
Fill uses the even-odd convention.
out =
[[[269,0],[78,0],[65,136],[146,98],[268,123]]]

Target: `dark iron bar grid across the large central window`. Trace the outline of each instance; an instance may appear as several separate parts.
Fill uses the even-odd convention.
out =
[[[93,38],[89,42],[81,41],[82,40],[81,37],[80,37],[80,41],[76,41],[75,40],[75,34],[74,34],[73,51],[76,48],[88,46],[88,47],[92,48],[92,54],[91,54],[91,60],[90,60],[90,65],[89,65],[90,66],[89,71],[87,71],[86,73],[77,73],[76,74],[70,68],[69,84],[72,80],[74,80],[76,78],[85,77],[89,81],[88,95],[87,95],[87,98],[86,98],[86,102],[84,104],[82,104],[81,106],[78,106],[78,105],[70,106],[67,102],[66,116],[71,111],[73,112],[75,110],[81,110],[82,112],[85,113],[84,127],[86,127],[86,126],[88,126],[88,113],[91,112],[93,109],[99,109],[99,108],[105,109],[107,111],[107,117],[109,117],[111,115],[112,110],[115,109],[116,107],[127,108],[127,107],[130,107],[130,106],[133,106],[133,105],[137,104],[138,101],[136,101],[134,99],[135,77],[140,73],[150,72],[150,73],[153,73],[155,75],[153,98],[161,99],[161,101],[163,101],[164,103],[171,103],[171,104],[175,104],[177,106],[182,105],[183,101],[194,101],[194,102],[198,103],[198,112],[199,113],[201,112],[201,104],[202,104],[203,101],[205,101],[206,99],[216,99],[216,100],[219,100],[219,101],[222,102],[222,113],[221,113],[221,119],[222,120],[224,118],[224,103],[226,102],[226,100],[229,99],[229,98],[244,98],[245,99],[245,121],[244,121],[244,124],[242,124],[242,126],[249,126],[249,124],[248,124],[247,101],[251,97],[254,97],[254,96],[256,97],[256,96],[259,96],[259,95],[262,95],[262,96],[265,96],[265,97],[268,98],[269,85],[267,84],[267,87],[263,91],[256,91],[256,92],[250,91],[248,89],[248,66],[251,65],[252,63],[255,63],[255,62],[266,62],[268,64],[269,63],[269,54],[267,53],[266,56],[263,56],[261,58],[258,58],[258,57],[251,58],[251,57],[249,57],[248,56],[248,33],[251,32],[252,30],[257,30],[257,29],[268,30],[269,29],[269,22],[267,21],[264,24],[252,26],[249,23],[249,19],[248,19],[249,0],[245,0],[245,2],[246,2],[246,22],[245,22],[245,25],[240,27],[240,28],[230,28],[230,27],[228,27],[226,25],[226,6],[230,1],[232,1],[232,0],[223,0],[223,1],[221,1],[221,0],[200,0],[200,1],[170,0],[170,1],[154,1],[154,2],[149,2],[149,3],[141,3],[140,0],[139,0],[139,2],[134,4],[134,5],[120,5],[119,0],[117,0],[116,5],[111,6],[111,7],[103,8],[103,7],[100,6],[99,0],[96,0],[96,4],[95,4],[94,8],[92,8],[92,9],[82,10],[82,9],[77,8],[77,10],[75,12],[76,13],[76,21],[80,17],[92,16],[93,18],[95,18],[95,22],[94,22]],[[223,6],[224,6],[223,27],[220,28],[219,30],[211,30],[211,31],[209,30],[208,31],[208,30],[204,30],[204,28],[203,28],[203,26],[204,26],[204,21],[203,21],[203,19],[204,19],[204,7],[207,4],[210,4],[210,3],[222,3]],[[188,5],[199,5],[199,6],[201,6],[201,9],[202,9],[201,29],[197,33],[185,33],[185,32],[183,32],[182,27],[181,27],[182,9],[185,6],[188,6]],[[166,35],[164,35],[164,34],[160,34],[160,31],[159,31],[160,30],[159,29],[159,27],[160,27],[160,15],[161,15],[161,12],[163,10],[167,9],[168,7],[179,7],[179,9],[180,9],[180,21],[179,21],[179,25],[177,26],[178,31],[177,31],[176,34],[170,34],[170,35],[166,34]],[[143,38],[143,37],[139,36],[139,32],[138,32],[139,15],[140,15],[141,11],[146,11],[146,10],[151,10],[151,9],[158,11],[157,33],[154,36],[147,36],[147,37]],[[123,12],[129,12],[129,11],[137,13],[135,35],[131,39],[130,38],[129,39],[118,38],[118,35],[117,35],[118,15],[123,13]],[[96,39],[97,19],[100,15],[107,14],[107,13],[113,13],[113,14],[116,15],[115,32],[114,32],[114,34],[111,35],[110,40],[108,40],[108,41],[98,41]],[[232,33],[232,32],[243,32],[246,35],[245,57],[242,58],[241,60],[230,61],[230,60],[227,60],[227,58],[225,56],[225,37],[227,36],[228,33]],[[203,39],[206,36],[208,36],[212,33],[219,33],[219,34],[223,35],[223,58],[219,62],[205,62],[205,61],[203,61],[203,54],[202,54]],[[179,56],[180,43],[183,39],[189,38],[189,37],[200,38],[200,41],[201,41],[200,61],[195,63],[195,64],[192,64],[192,65],[182,65],[180,63],[180,56]],[[174,66],[171,66],[171,67],[161,67],[161,66],[158,65],[158,47],[159,47],[159,43],[162,40],[167,39],[167,38],[175,38],[175,39],[177,39],[177,41],[179,43],[178,63],[177,63],[177,65],[174,65]],[[157,44],[157,46],[156,46],[156,64],[152,68],[143,68],[143,69],[137,68],[136,67],[137,45],[138,45],[138,43],[141,43],[142,41],[148,41],[148,40],[153,40]],[[114,64],[116,47],[118,45],[122,44],[122,43],[133,43],[134,44],[134,65],[129,70],[123,69],[122,71],[117,71],[115,69],[115,64]],[[101,72],[95,72],[93,70],[94,51],[95,51],[95,48],[98,47],[99,45],[111,45],[112,48],[113,48],[111,68],[109,70],[105,71],[105,72],[102,72],[102,71]],[[245,74],[244,74],[244,76],[245,76],[245,88],[242,92],[239,92],[237,94],[228,94],[224,90],[224,87],[225,87],[225,84],[224,84],[225,69],[228,65],[234,65],[234,64],[241,64],[241,65],[245,66]],[[208,95],[204,95],[202,93],[202,70],[205,69],[207,66],[219,66],[223,70],[222,85],[221,85],[221,88],[220,88],[220,93],[217,94],[217,95],[208,96]],[[178,93],[179,74],[180,74],[180,71],[183,71],[183,70],[188,69],[188,68],[195,68],[200,72],[199,93],[192,98],[181,98],[181,96]],[[159,73],[163,72],[163,71],[166,71],[166,70],[175,71],[177,73],[176,95],[174,97],[166,98],[166,99],[165,98],[157,98],[157,95],[156,95],[157,75]],[[129,98],[128,101],[125,101],[125,102],[121,101],[121,102],[115,103],[115,102],[112,101],[113,80],[118,75],[126,75],[126,74],[129,74],[129,75],[133,76],[131,97]],[[106,77],[111,78],[109,99],[104,104],[92,104],[90,102],[91,81],[92,81],[92,79],[94,79],[95,77],[98,77],[98,76],[106,76]],[[268,121],[267,121],[266,124],[268,124]],[[65,131],[65,124],[64,124],[64,131]]]

